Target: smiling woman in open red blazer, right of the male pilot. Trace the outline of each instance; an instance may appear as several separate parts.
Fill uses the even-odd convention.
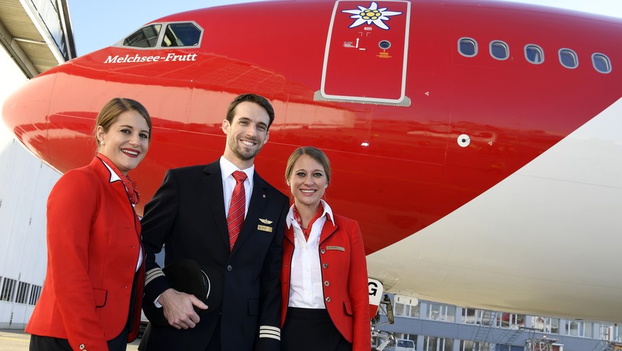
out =
[[[333,214],[322,199],[331,181],[328,157],[299,147],[289,157],[281,271],[281,350],[368,351],[367,263],[358,222]]]

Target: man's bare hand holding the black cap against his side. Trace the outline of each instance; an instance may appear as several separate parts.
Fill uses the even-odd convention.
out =
[[[162,293],[157,302],[164,308],[164,317],[168,323],[177,329],[195,328],[199,323],[201,318],[193,306],[207,310],[207,305],[195,295],[181,293],[173,288]]]

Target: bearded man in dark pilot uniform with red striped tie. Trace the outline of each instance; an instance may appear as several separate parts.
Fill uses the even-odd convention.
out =
[[[266,98],[234,98],[222,121],[222,157],[170,169],[145,206],[143,309],[163,308],[167,323],[150,320],[140,350],[279,350],[279,275],[289,201],[254,169],[273,120]],[[167,273],[155,261],[162,246]],[[188,259],[209,272],[210,281],[222,281],[210,286],[210,295],[217,289],[222,301],[206,305],[202,296],[173,288],[166,268]]]

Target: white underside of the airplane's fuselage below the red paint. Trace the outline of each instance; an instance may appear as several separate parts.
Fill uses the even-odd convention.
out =
[[[368,268],[390,293],[621,322],[621,251],[622,99]]]

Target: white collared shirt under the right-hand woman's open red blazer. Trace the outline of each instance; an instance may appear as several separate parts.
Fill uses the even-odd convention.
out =
[[[326,220],[333,222],[333,211],[326,201],[320,200],[324,207],[322,215],[313,223],[306,241],[298,221],[294,219],[294,205],[289,208],[286,224],[294,226],[294,255],[291,258],[291,277],[289,280],[289,307],[326,308],[322,285],[320,263],[320,235]]]

